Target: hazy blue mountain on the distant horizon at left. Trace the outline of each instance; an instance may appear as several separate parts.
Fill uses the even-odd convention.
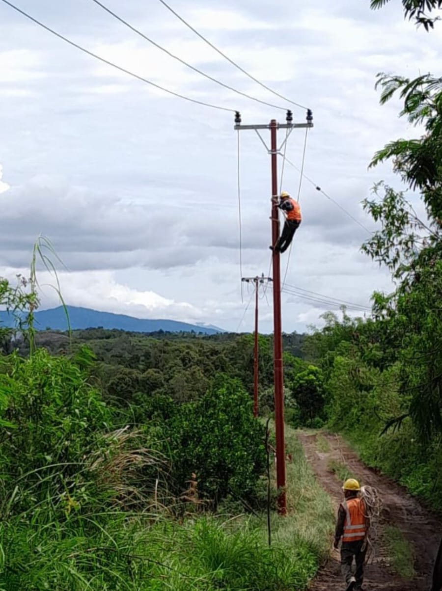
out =
[[[69,321],[72,330],[98,328],[119,329],[128,332],[202,332],[205,335],[216,335],[216,333],[225,332],[216,326],[205,326],[203,324],[187,324],[186,322],[177,322],[177,320],[147,320],[125,316],[125,314],[112,314],[110,312],[100,312],[89,308],[78,308],[67,306]],[[0,326],[14,327],[14,318],[4,311],[0,311]],[[67,330],[66,314],[63,306],[51,310],[38,310],[35,312],[36,330]]]

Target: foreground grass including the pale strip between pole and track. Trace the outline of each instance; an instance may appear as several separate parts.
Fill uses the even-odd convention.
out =
[[[0,589],[305,589],[326,555],[333,515],[291,429],[287,447],[290,514],[272,515],[271,547],[264,516],[193,515],[178,523],[148,507],[112,510],[103,498],[61,515],[59,499],[47,498],[0,526]]]

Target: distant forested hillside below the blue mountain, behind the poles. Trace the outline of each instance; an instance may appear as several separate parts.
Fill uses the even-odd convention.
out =
[[[286,381],[290,388],[301,359],[303,335],[284,335]],[[178,402],[201,398],[219,372],[238,378],[253,391],[254,339],[252,335],[220,333],[213,336],[189,333],[126,333],[119,330],[88,329],[67,333],[43,332],[35,342],[51,353],[75,351],[87,345],[96,356],[96,384],[106,398],[118,404],[156,396]],[[19,339],[4,348],[17,348],[27,355],[27,340]],[[259,337],[259,383],[262,401],[273,406],[273,339]]]

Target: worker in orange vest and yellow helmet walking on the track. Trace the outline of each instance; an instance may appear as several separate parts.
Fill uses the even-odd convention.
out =
[[[345,501],[339,505],[334,548],[337,549],[342,538],[341,571],[347,583],[346,591],[363,591],[365,555],[367,551],[366,535],[368,534],[369,518],[362,499],[359,498],[358,480],[349,478],[342,487]],[[356,561],[356,572],[353,575],[353,558]]]

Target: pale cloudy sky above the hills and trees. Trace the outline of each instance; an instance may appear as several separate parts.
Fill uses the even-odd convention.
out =
[[[239,72],[160,1],[104,3],[194,67],[306,121],[305,109]],[[305,178],[300,186],[298,170],[285,163],[281,188],[294,197],[299,191],[303,212],[290,260],[281,256],[286,286],[360,306],[370,305],[373,290],[391,291],[388,272],[360,252],[376,228],[361,202],[379,180],[401,188],[391,165],[368,165],[386,142],[417,131],[398,118],[399,102],[379,105],[375,78],[381,71],[438,73],[441,29],[416,30],[404,21],[399,0],[375,12],[369,0],[170,5],[243,69],[313,110],[304,173],[333,200]],[[17,6],[158,85],[238,109],[245,125],[285,122],[283,109],[187,69],[92,0],[17,0]],[[0,276],[27,277],[32,245],[44,235],[63,261],[58,279],[68,304],[252,330],[253,294],[241,276],[269,274],[270,158],[254,132],[241,132],[240,265],[233,118],[118,72],[0,2]],[[296,129],[287,143],[298,168],[304,133]],[[282,158],[279,164],[281,177]],[[55,281],[44,268],[39,278],[42,285]],[[271,290],[261,296],[260,328],[271,332]],[[41,307],[57,305],[56,292],[43,287]],[[328,309],[337,310],[282,293],[283,330],[320,326]]]

